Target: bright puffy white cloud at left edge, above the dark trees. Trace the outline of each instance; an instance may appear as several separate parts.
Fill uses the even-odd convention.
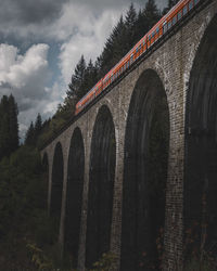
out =
[[[38,113],[53,114],[56,101],[62,100],[56,86],[46,88],[51,75],[48,50],[48,44],[34,44],[22,55],[16,47],[0,44],[0,96],[10,93],[15,96],[22,137]]]

